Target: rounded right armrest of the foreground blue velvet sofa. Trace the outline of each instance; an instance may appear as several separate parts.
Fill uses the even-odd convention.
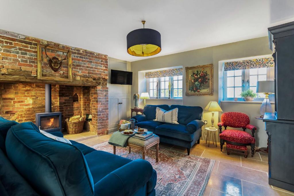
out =
[[[94,185],[94,195],[134,195],[148,182],[152,172],[152,166],[148,161],[134,160],[98,181]]]

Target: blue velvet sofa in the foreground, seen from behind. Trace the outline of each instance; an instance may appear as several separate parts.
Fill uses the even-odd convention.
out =
[[[148,161],[71,143],[0,117],[0,195],[155,195]]]

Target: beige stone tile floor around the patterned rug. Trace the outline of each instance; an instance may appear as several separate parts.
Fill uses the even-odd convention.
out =
[[[97,136],[94,133],[82,132],[64,137],[75,140],[88,146],[108,141],[111,135]],[[170,144],[160,144],[165,148],[186,152],[186,148]],[[227,155],[225,146],[220,152],[220,145],[217,147],[212,143],[208,147],[205,141],[195,144],[190,154],[216,160],[204,196],[215,195],[291,195],[293,192],[273,187],[268,184],[268,156],[264,153],[255,153],[254,157],[244,158],[243,154],[230,153]],[[248,155],[251,152],[248,151]],[[160,161],[160,160],[159,160]]]

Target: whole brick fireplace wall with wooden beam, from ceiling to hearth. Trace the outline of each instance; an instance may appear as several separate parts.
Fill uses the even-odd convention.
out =
[[[37,44],[71,50],[72,82],[38,80]],[[63,119],[92,114],[84,128],[108,133],[107,55],[0,30],[0,116],[17,122],[35,122],[45,112],[45,83],[52,84],[52,112]],[[51,71],[57,78],[67,68]]]

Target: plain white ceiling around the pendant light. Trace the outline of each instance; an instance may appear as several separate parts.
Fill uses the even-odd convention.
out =
[[[267,36],[294,21],[293,0],[0,0],[0,29],[136,61],[126,35],[145,27],[161,33],[152,57]],[[150,57],[149,57],[150,58]]]

